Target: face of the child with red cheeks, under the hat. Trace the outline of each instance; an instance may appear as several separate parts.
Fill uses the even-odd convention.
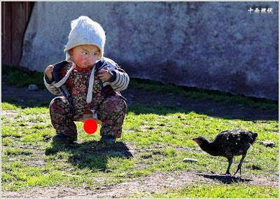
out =
[[[80,45],[69,50],[75,64],[85,69],[92,66],[99,58],[100,50],[94,45]]]

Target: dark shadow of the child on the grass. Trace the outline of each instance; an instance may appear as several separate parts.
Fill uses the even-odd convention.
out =
[[[97,141],[74,144],[52,142],[52,146],[45,149],[45,155],[55,154],[55,158],[67,156],[69,163],[79,168],[88,167],[91,170],[104,172],[111,172],[111,170],[107,170],[107,163],[110,158],[133,157],[130,149],[123,142],[116,142],[115,144],[101,144]]]

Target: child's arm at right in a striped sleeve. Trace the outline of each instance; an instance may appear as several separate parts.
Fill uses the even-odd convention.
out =
[[[128,74],[123,69],[121,69],[113,60],[110,60],[106,57],[104,57],[104,60],[105,62],[101,67],[103,69],[99,70],[99,72],[101,71],[103,72],[103,74],[97,75],[98,77],[102,75],[104,76],[104,71],[109,71],[109,73],[111,74],[111,78],[109,78],[108,81],[104,82],[104,85],[110,84],[113,90],[115,90],[116,92],[127,89],[127,86],[130,83],[130,77],[128,76]],[[104,70],[105,68],[106,70]]]

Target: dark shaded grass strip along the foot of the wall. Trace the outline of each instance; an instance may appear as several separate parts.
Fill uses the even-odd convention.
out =
[[[29,84],[36,84],[39,88],[45,88],[43,83],[43,72],[27,71],[27,69],[20,69],[14,66],[3,66],[2,75],[7,77],[4,79],[6,83],[15,85],[16,87],[23,87]],[[202,88],[193,88],[188,86],[179,86],[172,84],[163,84],[159,81],[131,78],[130,88],[155,90],[162,92],[173,93],[183,97],[191,97],[193,99],[210,99],[214,102],[232,102],[241,104],[246,107],[256,109],[278,111],[278,102],[272,99],[245,97],[244,95],[232,95],[229,92],[219,90],[207,90]],[[9,102],[18,102],[18,99],[10,99]],[[27,104],[30,104],[27,102]],[[41,102],[40,106],[48,106],[48,102]]]

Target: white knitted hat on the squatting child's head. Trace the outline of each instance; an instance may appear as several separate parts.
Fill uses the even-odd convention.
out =
[[[92,44],[99,48],[100,57],[103,57],[105,45],[105,32],[99,23],[92,21],[87,16],[80,16],[78,19],[71,21],[71,32],[68,36],[68,43],[65,46],[66,61],[71,62],[69,50],[75,46]]]

